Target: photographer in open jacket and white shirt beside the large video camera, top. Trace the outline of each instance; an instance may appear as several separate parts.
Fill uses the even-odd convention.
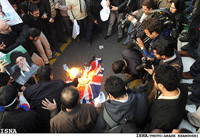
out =
[[[144,19],[146,19],[149,15],[149,10],[152,10],[153,8],[153,3],[151,0],[145,0],[142,3],[142,8],[134,11],[132,14],[134,16],[136,16],[136,18],[134,18],[131,15],[128,15],[128,20],[131,21],[129,28],[128,28],[128,36],[126,37],[126,40],[123,42],[124,45],[128,44],[130,41],[130,36],[129,34],[131,33],[132,30],[137,29],[137,27],[139,27],[139,25],[144,21]]]

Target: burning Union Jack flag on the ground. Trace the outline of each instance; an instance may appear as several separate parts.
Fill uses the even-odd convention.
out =
[[[91,62],[90,67],[86,67],[84,70],[80,68],[64,68],[67,71],[67,75],[70,77],[67,83],[72,82],[78,73],[82,73],[81,78],[78,79],[79,84],[77,86],[80,92],[80,102],[94,105],[93,100],[99,95],[104,73],[104,69],[101,68],[101,58],[95,58],[95,60]]]

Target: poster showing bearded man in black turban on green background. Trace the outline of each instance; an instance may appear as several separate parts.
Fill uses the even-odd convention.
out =
[[[5,66],[7,73],[21,85],[24,85],[39,69],[22,46],[18,46],[0,60],[7,62],[8,65]]]

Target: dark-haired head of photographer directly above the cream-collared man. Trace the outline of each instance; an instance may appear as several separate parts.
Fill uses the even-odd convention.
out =
[[[166,60],[174,55],[173,40],[170,38],[161,38],[157,40],[152,48],[155,57],[159,60]]]

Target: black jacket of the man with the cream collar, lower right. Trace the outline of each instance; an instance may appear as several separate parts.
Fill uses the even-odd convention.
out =
[[[161,129],[164,132],[171,133],[182,121],[187,102],[187,88],[184,85],[178,87],[180,96],[178,99],[166,100],[155,99],[149,110],[148,123],[145,128],[149,133],[153,129]]]

